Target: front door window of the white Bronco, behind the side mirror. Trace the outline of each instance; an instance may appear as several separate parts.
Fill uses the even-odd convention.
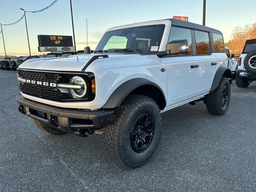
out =
[[[172,27],[168,44],[171,44],[172,55],[192,55],[191,30]]]

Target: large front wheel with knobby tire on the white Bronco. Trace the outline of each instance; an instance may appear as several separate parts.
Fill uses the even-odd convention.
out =
[[[139,167],[154,153],[160,139],[161,126],[160,109],[155,100],[147,96],[129,95],[115,108],[110,124],[103,128],[106,151],[119,164]],[[147,136],[144,137],[146,132]],[[145,140],[144,144],[143,139],[139,140],[141,136]],[[146,141],[149,144],[146,145]]]

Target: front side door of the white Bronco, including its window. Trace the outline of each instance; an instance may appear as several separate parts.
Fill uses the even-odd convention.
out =
[[[193,54],[190,29],[172,27],[168,43],[171,55],[164,58],[167,68],[167,108],[198,96],[198,58]]]

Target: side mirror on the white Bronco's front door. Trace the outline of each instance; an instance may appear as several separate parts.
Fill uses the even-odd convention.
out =
[[[186,54],[188,53],[188,40],[174,40],[166,44],[166,51],[172,50],[172,54]]]

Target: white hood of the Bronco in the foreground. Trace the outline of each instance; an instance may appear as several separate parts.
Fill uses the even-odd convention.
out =
[[[30,60],[25,61],[19,66],[19,68],[33,70],[80,72],[87,64],[87,62],[95,55],[106,54],[82,54],[72,55],[64,58],[38,58],[37,60],[32,60],[31,62]],[[134,54],[108,54],[109,58],[128,56],[134,56]]]

